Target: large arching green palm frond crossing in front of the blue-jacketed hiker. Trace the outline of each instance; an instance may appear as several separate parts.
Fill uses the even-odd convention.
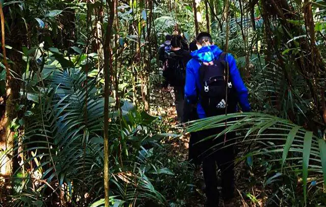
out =
[[[229,119],[237,120],[228,122],[228,127],[225,130],[216,132],[215,135],[205,139],[221,138],[221,135],[231,131],[238,132],[237,143],[251,142],[260,146],[253,150],[251,155],[266,156],[273,154],[274,157],[278,157],[277,155],[279,154],[279,158],[270,162],[274,162],[276,166],[280,163],[281,165],[279,166],[283,166],[286,163],[287,167],[290,168],[302,166],[300,174],[303,178],[304,189],[307,189],[309,174],[317,176],[317,178],[325,177],[325,158],[323,156],[326,153],[325,141],[313,135],[312,132],[291,123],[289,120],[262,113],[234,113],[191,122],[187,131],[194,132],[223,127],[225,121]],[[240,135],[244,134],[243,132],[247,133]],[[258,141],[273,144],[261,145]],[[276,171],[286,173],[282,168],[276,168]],[[304,197],[307,197],[306,190],[304,190]]]

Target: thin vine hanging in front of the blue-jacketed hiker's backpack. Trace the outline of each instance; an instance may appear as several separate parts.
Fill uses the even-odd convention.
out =
[[[226,102],[226,107],[225,107],[225,115],[228,114],[228,83],[229,83],[229,62],[228,62],[228,46],[229,46],[229,0],[226,0],[226,38],[225,38],[225,48],[224,48],[224,51],[226,53],[226,77],[227,77],[227,86],[226,86],[226,96],[225,96],[225,102]],[[227,122],[228,120],[226,119],[225,120],[225,129],[227,128]],[[224,143],[223,145],[225,145],[225,142],[226,142],[226,133],[224,134]]]

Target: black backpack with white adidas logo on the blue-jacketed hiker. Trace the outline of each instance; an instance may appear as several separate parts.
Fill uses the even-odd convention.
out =
[[[235,112],[236,94],[225,56],[226,53],[223,52],[218,60],[212,62],[212,65],[207,66],[201,63],[199,68],[200,100],[207,116],[225,114],[226,107],[228,113]],[[229,74],[229,82],[227,81],[227,73]],[[226,94],[228,95],[227,98]]]

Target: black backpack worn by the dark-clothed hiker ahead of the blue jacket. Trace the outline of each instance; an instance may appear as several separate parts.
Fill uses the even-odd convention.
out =
[[[183,56],[166,52],[165,70],[167,70],[167,81],[172,86],[183,86],[185,84],[185,64]]]

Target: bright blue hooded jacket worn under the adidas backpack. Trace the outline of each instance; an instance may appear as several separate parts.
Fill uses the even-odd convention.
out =
[[[188,103],[197,103],[197,91],[201,88],[199,80],[199,68],[201,63],[208,63],[217,60],[222,54],[222,50],[216,46],[204,46],[199,50],[191,53],[192,59],[188,62],[185,75],[184,96],[185,101]],[[244,85],[240,73],[236,67],[236,62],[231,54],[226,55],[226,60],[229,63],[230,78],[232,79],[233,86],[237,92],[237,98],[242,108],[242,111],[250,111],[250,104],[248,101],[248,90]],[[197,113],[199,119],[206,117],[205,111],[200,102],[197,104]]]

